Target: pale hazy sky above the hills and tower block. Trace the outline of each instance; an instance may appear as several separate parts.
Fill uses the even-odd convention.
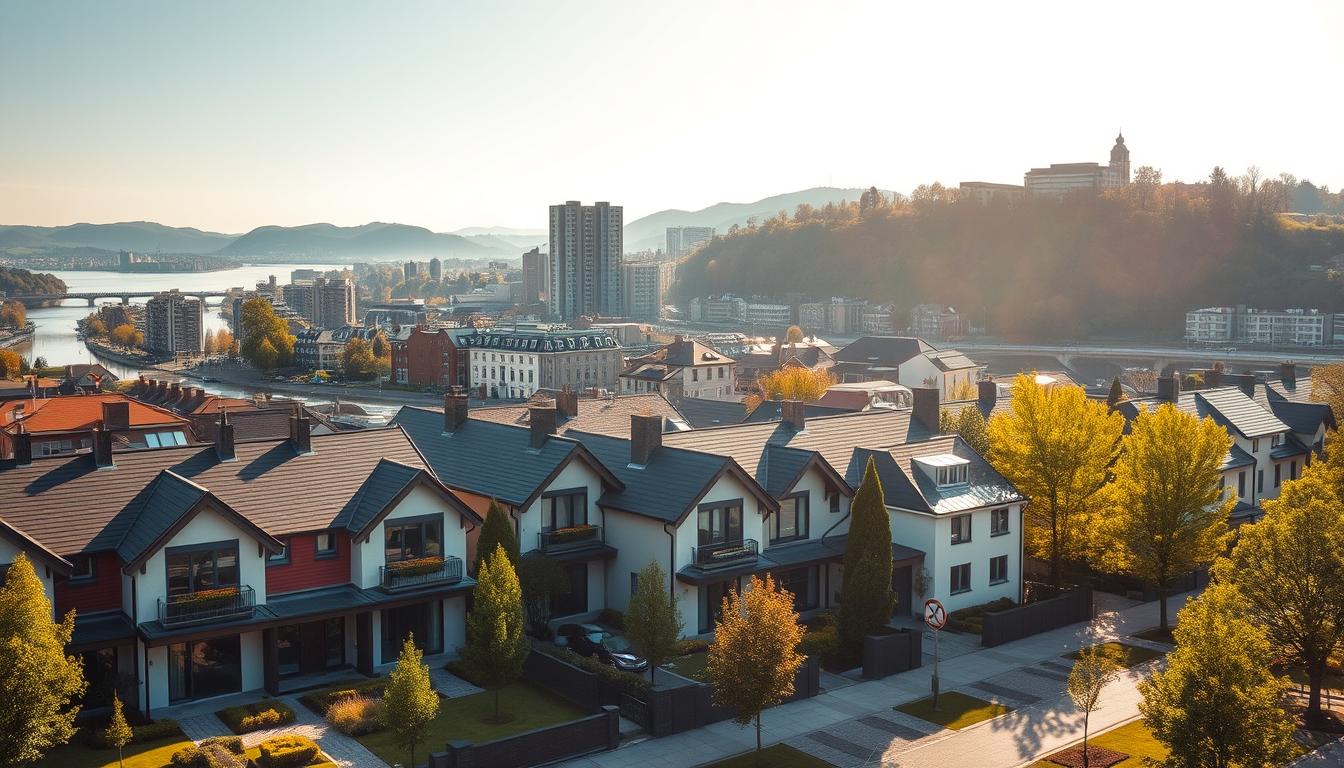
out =
[[[1105,161],[1344,186],[1344,3],[0,0],[0,223],[542,227]]]

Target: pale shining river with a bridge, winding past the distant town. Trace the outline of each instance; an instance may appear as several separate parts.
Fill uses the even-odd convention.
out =
[[[173,288],[185,292],[224,291],[239,286],[253,288],[258,281],[263,281],[271,274],[276,276],[277,282],[284,285],[289,282],[289,273],[294,269],[316,269],[319,272],[325,272],[328,269],[347,268],[348,265],[246,264],[235,269],[222,269],[218,272],[130,274],[125,272],[56,270],[51,274],[65,280],[66,289],[71,293],[86,293],[91,291],[108,291],[112,293],[144,291],[146,293],[156,293],[160,291],[171,291]],[[214,331],[227,328],[228,321],[219,316],[219,305],[216,304],[219,299],[208,299],[207,301],[210,305],[206,309],[206,328]],[[109,299],[106,303],[116,304],[117,300]],[[28,320],[31,320],[35,325],[32,340],[17,344],[13,350],[30,360],[35,358],[46,358],[47,363],[52,366],[98,362],[121,378],[134,378],[138,375],[138,369],[124,366],[116,360],[98,358],[90,352],[83,342],[75,335],[75,323],[78,323],[79,319],[86,317],[90,312],[93,312],[93,309],[90,309],[87,301],[82,299],[66,300],[60,307],[28,309]],[[207,389],[228,397],[249,397],[257,391],[251,387],[245,390],[242,387],[220,383],[211,383]],[[305,399],[308,402],[325,402],[323,399],[305,398],[304,395],[294,395],[289,393],[280,394],[284,397],[293,397],[296,399]],[[347,398],[341,398],[341,401],[355,402],[370,413],[387,414],[395,410],[395,406],[366,404]]]

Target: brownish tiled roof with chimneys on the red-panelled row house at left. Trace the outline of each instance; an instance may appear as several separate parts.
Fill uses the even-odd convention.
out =
[[[312,448],[238,443],[234,461],[220,461],[212,445],[126,451],[108,469],[95,468],[90,455],[34,459],[28,467],[9,461],[0,469],[0,518],[59,554],[114,550],[167,469],[267,534],[285,535],[335,526],[384,457],[427,469],[401,429],[319,434]],[[163,499],[171,508],[173,496]]]

